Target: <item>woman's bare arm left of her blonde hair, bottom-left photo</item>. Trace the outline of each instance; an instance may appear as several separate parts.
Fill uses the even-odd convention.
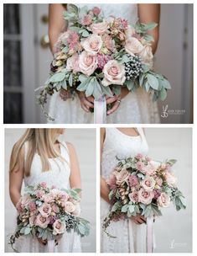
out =
[[[18,155],[17,164],[15,165],[13,170],[9,170],[9,195],[15,207],[18,203],[18,200],[21,197],[21,188],[23,184],[23,174],[24,174],[23,159],[24,159],[24,152],[22,148]],[[12,156],[11,156],[10,162],[12,163]]]

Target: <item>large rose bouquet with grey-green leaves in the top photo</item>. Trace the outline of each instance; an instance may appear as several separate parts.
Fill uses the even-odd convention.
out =
[[[60,90],[66,97],[83,91],[86,97],[99,100],[119,95],[122,87],[130,91],[143,88],[153,100],[166,98],[171,87],[153,71],[153,37],[148,35],[157,24],[129,24],[112,16],[104,19],[101,8],[73,4],[68,5],[64,18],[68,29],[55,46],[49,79],[38,97],[42,109],[47,95]]]

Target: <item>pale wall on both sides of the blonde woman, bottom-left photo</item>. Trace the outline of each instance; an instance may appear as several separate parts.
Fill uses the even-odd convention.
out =
[[[13,232],[13,218],[16,211],[8,195],[8,163],[14,142],[25,129],[5,129],[5,251],[8,247],[8,234]],[[96,131],[95,129],[66,129],[65,139],[74,146],[79,158],[82,200],[81,216],[91,221],[91,234],[82,238],[83,252],[96,251]]]

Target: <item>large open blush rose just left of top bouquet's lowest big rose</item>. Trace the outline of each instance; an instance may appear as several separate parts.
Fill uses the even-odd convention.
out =
[[[91,76],[97,67],[96,56],[90,56],[87,51],[82,51],[79,57],[80,72],[86,76]]]

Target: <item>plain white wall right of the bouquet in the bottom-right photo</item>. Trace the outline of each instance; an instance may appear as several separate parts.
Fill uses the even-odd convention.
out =
[[[177,159],[174,165],[179,189],[186,198],[186,210],[173,206],[155,222],[156,252],[192,252],[192,129],[146,128],[149,156],[157,160]]]

